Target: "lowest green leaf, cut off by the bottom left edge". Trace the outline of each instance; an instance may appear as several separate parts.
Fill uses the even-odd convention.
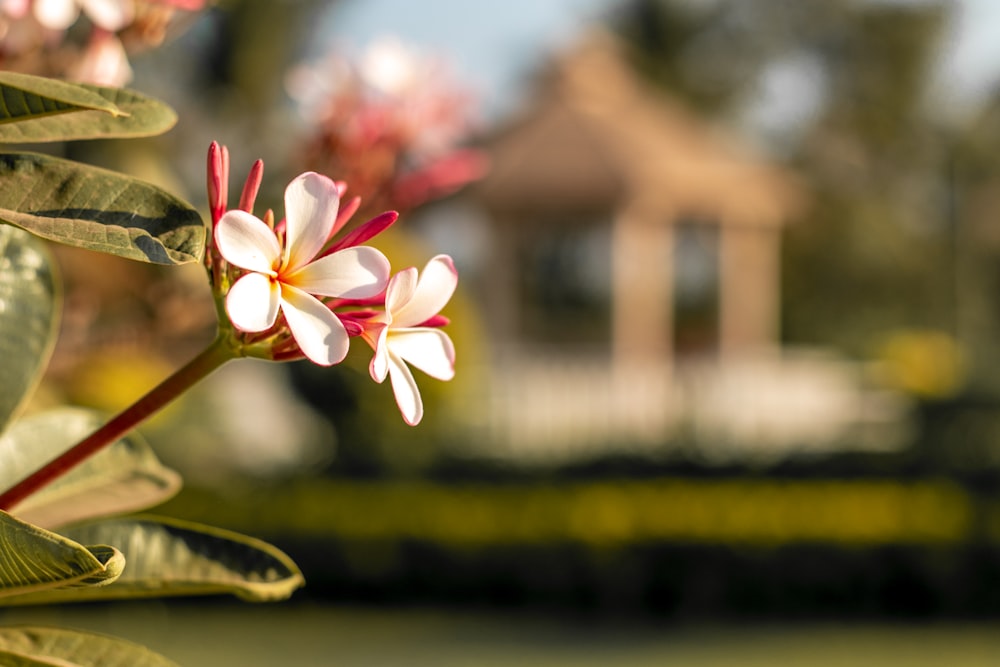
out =
[[[63,628],[0,628],[0,664],[12,667],[177,667],[144,646],[117,637]]]

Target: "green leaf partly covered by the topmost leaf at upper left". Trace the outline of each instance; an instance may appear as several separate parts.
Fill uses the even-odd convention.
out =
[[[30,116],[3,123],[0,114],[0,143],[149,137],[163,134],[177,122],[177,114],[169,106],[134,90],[79,87],[123,115],[112,115],[103,109],[76,108],[58,115]]]

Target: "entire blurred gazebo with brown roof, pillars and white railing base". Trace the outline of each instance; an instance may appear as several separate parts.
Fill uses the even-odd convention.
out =
[[[796,179],[641,82],[606,33],[539,84],[472,191],[494,435],[520,458],[655,447],[692,424],[748,444],[841,435],[854,369],[779,346]]]

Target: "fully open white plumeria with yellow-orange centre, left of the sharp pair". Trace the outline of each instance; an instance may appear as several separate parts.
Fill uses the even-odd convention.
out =
[[[348,335],[316,297],[367,299],[380,294],[389,278],[389,260],[375,248],[321,252],[334,232],[339,202],[332,180],[306,172],[285,189],[283,247],[263,220],[242,210],[227,211],[215,227],[219,253],[248,272],[226,295],[233,326],[266,331],[280,311],[302,353],[323,366],[343,361]]]

